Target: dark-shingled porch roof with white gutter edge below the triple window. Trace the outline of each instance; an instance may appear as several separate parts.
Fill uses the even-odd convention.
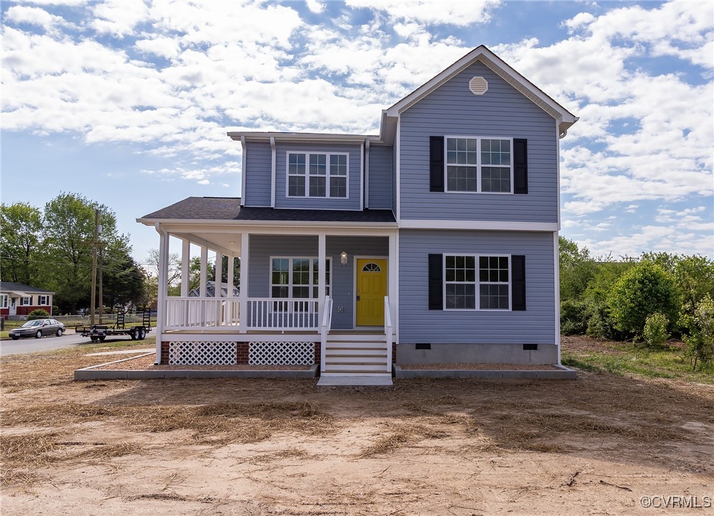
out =
[[[166,221],[236,221],[236,223],[306,222],[393,224],[391,210],[294,210],[241,206],[239,197],[188,197],[159,211],[149,213],[137,222],[151,224]]]

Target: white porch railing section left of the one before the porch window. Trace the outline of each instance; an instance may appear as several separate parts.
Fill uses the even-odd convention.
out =
[[[238,298],[166,298],[166,330],[238,327]]]

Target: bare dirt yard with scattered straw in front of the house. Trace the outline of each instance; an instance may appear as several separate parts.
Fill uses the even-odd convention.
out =
[[[714,495],[712,385],[74,382],[82,353],[2,361],[4,516],[711,514],[640,498]]]

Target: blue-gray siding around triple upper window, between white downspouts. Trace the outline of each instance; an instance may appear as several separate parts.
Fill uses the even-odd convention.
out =
[[[286,160],[288,152],[349,153],[348,198],[288,197]],[[276,143],[276,208],[310,210],[360,210],[362,182],[360,145],[321,145],[316,143]]]

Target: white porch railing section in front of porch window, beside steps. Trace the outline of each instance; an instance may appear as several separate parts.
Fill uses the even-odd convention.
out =
[[[248,298],[247,330],[317,330],[318,300]]]

